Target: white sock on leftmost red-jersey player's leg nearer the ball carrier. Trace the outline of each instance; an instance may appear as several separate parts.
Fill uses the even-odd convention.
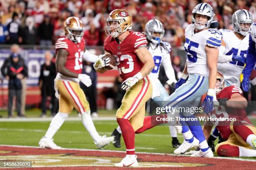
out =
[[[100,135],[92,122],[91,111],[81,113],[81,118],[84,128],[90,133],[92,139],[97,142],[100,139]]]

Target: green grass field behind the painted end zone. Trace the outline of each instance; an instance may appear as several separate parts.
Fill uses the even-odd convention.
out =
[[[115,110],[100,110],[100,116],[115,115]],[[6,111],[1,111],[2,117],[7,117]],[[27,117],[39,117],[39,110],[28,110]],[[71,117],[77,117],[76,112],[72,112]],[[255,123],[255,121],[253,121]],[[0,122],[0,145],[27,145],[38,146],[38,142],[46,133],[50,121],[36,122]],[[95,127],[100,135],[106,134],[110,136],[114,128],[118,126],[115,120],[94,121]],[[182,143],[182,135],[178,135],[180,143]],[[217,142],[217,140],[216,140]],[[61,126],[59,131],[54,135],[54,143],[63,148],[82,148],[96,149],[89,133],[84,129],[81,121],[67,120]],[[121,140],[121,148],[115,148],[112,144],[105,149],[108,150],[125,150],[123,140]],[[173,153],[172,138],[169,135],[167,126],[157,126],[144,133],[136,135],[136,151],[150,153]],[[256,158],[252,158],[256,159]]]

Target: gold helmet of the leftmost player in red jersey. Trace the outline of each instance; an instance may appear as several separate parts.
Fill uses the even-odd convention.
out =
[[[69,17],[64,22],[65,35],[69,40],[74,42],[81,42],[84,35],[84,25],[77,17]]]

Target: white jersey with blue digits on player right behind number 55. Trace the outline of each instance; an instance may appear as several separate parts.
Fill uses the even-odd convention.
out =
[[[240,55],[246,57],[247,49],[249,47],[249,34],[243,40],[240,40],[233,31],[220,29],[223,40],[226,43],[225,55]],[[226,82],[230,85],[240,87],[240,74],[243,71],[244,64],[238,61],[230,61],[225,63],[218,63],[218,71],[224,76]]]

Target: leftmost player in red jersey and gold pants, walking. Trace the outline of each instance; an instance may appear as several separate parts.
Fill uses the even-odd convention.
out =
[[[66,37],[59,38],[55,44],[58,72],[55,79],[55,95],[59,98],[59,112],[51,120],[46,134],[38,144],[42,148],[61,149],[53,142],[52,137],[75,108],[81,113],[82,123],[92,136],[95,145],[103,148],[113,142],[114,138],[106,138],[105,135],[100,136],[97,133],[90,116],[89,103],[79,86],[79,81],[87,87],[92,84],[88,75],[81,74],[83,55],[90,55],[82,38],[84,26],[79,18],[69,17],[65,20],[64,27]]]

